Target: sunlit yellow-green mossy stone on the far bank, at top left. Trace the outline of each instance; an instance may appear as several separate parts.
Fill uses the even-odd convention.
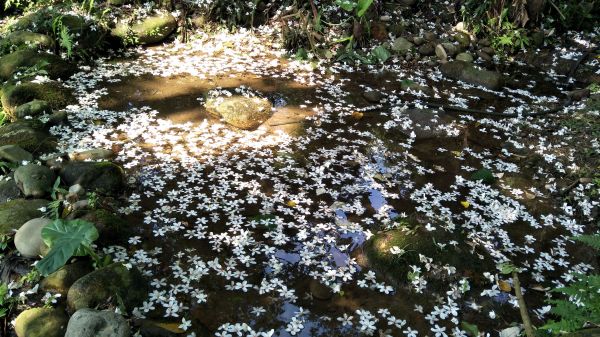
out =
[[[177,20],[170,13],[148,16],[139,22],[119,22],[111,31],[126,44],[152,44],[166,39],[177,28]]]

